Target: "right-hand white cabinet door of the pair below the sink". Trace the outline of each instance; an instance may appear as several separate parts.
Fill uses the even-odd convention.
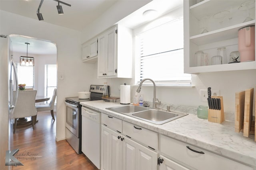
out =
[[[157,152],[127,137],[123,140],[122,170],[157,170]]]

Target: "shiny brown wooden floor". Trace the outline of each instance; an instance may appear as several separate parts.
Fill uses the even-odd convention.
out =
[[[17,127],[13,136],[13,148],[19,149],[15,157],[24,166],[13,170],[98,170],[84,154],[76,154],[66,140],[56,142],[56,121],[49,112],[37,115],[38,123]]]

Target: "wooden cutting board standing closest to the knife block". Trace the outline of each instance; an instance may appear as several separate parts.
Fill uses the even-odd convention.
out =
[[[239,133],[243,129],[244,125],[244,100],[245,91],[236,92],[235,132],[237,133]]]

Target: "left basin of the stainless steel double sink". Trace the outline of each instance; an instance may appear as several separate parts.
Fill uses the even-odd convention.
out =
[[[110,107],[110,108],[106,108],[106,109],[125,114],[125,113],[136,113],[138,111],[148,110],[149,108],[141,107],[141,106],[134,106],[134,105],[126,105],[126,106]]]

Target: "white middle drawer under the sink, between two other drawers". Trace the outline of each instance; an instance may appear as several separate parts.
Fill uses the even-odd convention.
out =
[[[123,121],[123,133],[131,139],[135,139],[148,147],[158,150],[158,134],[155,132]]]

